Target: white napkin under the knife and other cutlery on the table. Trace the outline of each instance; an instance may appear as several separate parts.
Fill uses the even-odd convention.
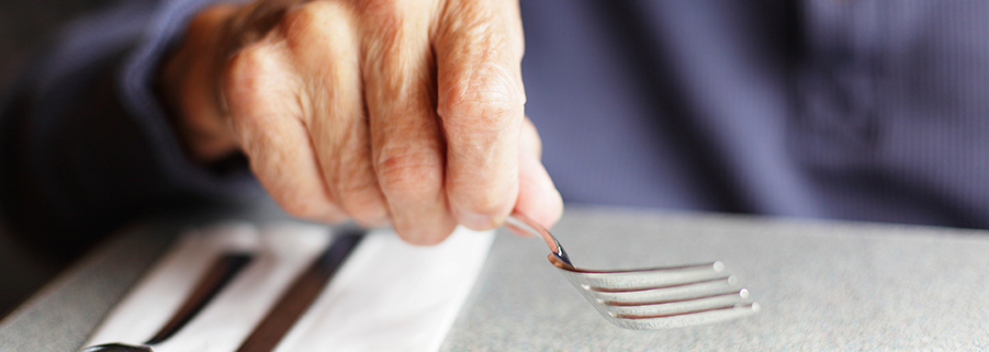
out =
[[[191,231],[104,318],[87,345],[139,344],[171,317],[223,252],[255,259],[157,352],[234,351],[329,243],[324,226],[245,223]],[[458,228],[434,247],[369,234],[276,351],[436,351],[487,257],[493,231]]]

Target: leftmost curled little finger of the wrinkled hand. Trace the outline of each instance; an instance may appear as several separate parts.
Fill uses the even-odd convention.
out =
[[[284,55],[265,43],[232,59],[222,87],[235,135],[260,183],[288,213],[341,220],[319,178],[289,72]]]

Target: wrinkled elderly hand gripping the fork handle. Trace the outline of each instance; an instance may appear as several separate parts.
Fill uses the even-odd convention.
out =
[[[243,151],[289,213],[412,243],[562,201],[525,117],[514,1],[259,1],[190,23],[159,90],[190,156]]]

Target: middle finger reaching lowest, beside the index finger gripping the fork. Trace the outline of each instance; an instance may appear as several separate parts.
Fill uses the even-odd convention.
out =
[[[424,12],[431,11],[393,3],[364,9],[361,37],[371,149],[392,225],[411,243],[432,245],[457,223],[442,189],[429,19],[417,16]]]

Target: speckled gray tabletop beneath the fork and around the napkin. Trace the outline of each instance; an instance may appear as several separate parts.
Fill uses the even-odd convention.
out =
[[[190,224],[281,218],[266,205],[122,231],[0,321],[0,351],[71,351]],[[571,206],[577,265],[721,260],[763,309],[632,331],[602,319],[535,238],[499,232],[442,351],[989,350],[989,231]]]

